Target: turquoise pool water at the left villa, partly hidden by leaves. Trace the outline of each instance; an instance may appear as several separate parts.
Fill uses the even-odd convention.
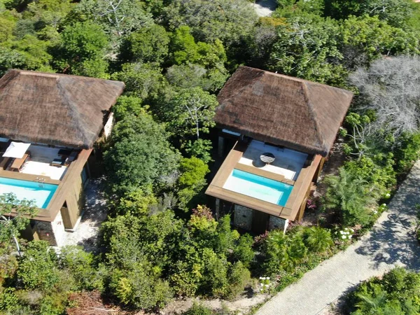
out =
[[[46,209],[58,185],[6,179],[0,177],[0,195],[14,193],[19,200],[35,200],[36,207]]]

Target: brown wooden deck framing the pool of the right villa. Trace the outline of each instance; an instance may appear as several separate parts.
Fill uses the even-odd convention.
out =
[[[279,216],[292,221],[295,220],[302,202],[307,197],[307,192],[311,188],[312,179],[314,178],[316,169],[321,162],[321,155],[316,155],[309,166],[302,168],[296,181],[291,181],[280,174],[267,172],[265,170],[258,169],[257,167],[251,167],[239,163],[239,160],[242,155],[244,155],[247,146],[248,144],[243,142],[237,142],[237,144],[235,144],[234,148],[232,148],[228,156],[225,158],[225,161],[221,165],[221,168],[218,170],[216,176],[214,176],[213,181],[211,181],[209,188],[206,190],[206,194],[244,207],[262,211],[267,214],[271,214],[272,216]],[[263,176],[268,179],[273,179],[274,181],[281,181],[294,186],[285,207],[281,207],[278,204],[272,204],[271,202],[265,202],[264,200],[259,200],[254,197],[249,197],[247,195],[242,195],[240,193],[235,193],[232,190],[223,188],[230,174],[232,174],[233,169],[240,169],[244,172]]]

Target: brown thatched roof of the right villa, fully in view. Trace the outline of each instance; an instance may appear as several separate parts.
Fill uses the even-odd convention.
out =
[[[353,94],[240,66],[218,94],[220,127],[253,139],[328,155]]]

